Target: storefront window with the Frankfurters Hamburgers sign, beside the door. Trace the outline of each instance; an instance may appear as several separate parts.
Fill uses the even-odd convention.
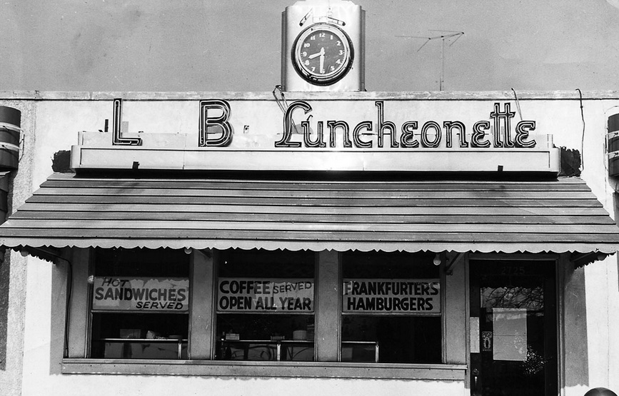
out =
[[[441,281],[433,257],[343,254],[343,362],[441,362]]]

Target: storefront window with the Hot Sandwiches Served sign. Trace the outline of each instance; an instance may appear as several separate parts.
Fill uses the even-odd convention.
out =
[[[91,357],[187,358],[189,255],[96,249],[91,283]]]

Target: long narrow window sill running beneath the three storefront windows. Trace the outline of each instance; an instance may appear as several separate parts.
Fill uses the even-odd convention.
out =
[[[64,359],[63,374],[373,378],[463,381],[466,365]]]

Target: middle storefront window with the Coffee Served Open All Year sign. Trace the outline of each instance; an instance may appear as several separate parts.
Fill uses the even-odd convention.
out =
[[[218,360],[314,360],[313,252],[226,250],[216,283]]]

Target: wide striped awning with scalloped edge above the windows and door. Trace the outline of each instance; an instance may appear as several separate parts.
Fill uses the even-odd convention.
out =
[[[580,178],[264,181],[51,176],[0,245],[614,253]]]

